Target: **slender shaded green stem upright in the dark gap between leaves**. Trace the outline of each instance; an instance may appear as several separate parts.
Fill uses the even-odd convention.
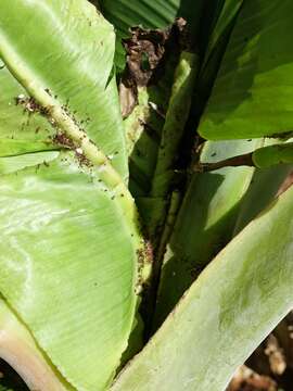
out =
[[[155,256],[150,277],[150,286],[145,297],[146,315],[144,320],[146,340],[150,338],[153,328],[152,323],[166,243],[176,219],[179,200],[181,199],[177,191],[174,191],[170,195],[170,190],[175,177],[175,164],[178,149],[190,112],[192,89],[198,75],[198,54],[190,52],[181,53],[175,72],[171,96],[163,127],[157,163],[152,181],[150,195],[152,198],[167,200],[167,206],[162,207],[156,225],[150,227]]]

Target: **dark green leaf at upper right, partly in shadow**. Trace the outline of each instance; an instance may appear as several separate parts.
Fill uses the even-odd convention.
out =
[[[291,0],[246,0],[232,33],[200,134],[263,137],[293,126]]]

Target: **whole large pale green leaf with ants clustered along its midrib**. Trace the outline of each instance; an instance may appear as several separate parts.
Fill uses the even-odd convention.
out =
[[[87,1],[0,4],[0,291],[78,390],[114,376],[143,260],[114,41]]]

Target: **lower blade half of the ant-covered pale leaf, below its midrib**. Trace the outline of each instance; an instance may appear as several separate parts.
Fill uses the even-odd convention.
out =
[[[95,390],[127,348],[139,243],[127,194],[71,154],[1,177],[0,290],[61,373]]]

